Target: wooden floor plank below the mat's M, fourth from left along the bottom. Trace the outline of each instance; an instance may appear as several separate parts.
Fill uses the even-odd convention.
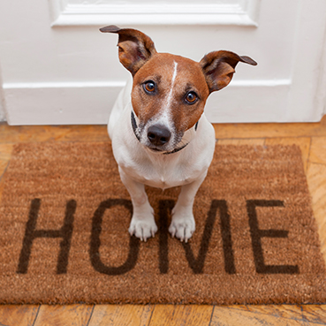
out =
[[[205,326],[209,325],[213,306],[157,305],[150,326]]]

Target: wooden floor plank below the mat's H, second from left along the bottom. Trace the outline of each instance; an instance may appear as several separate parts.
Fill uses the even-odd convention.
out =
[[[34,326],[87,326],[93,308],[90,305],[42,305]]]

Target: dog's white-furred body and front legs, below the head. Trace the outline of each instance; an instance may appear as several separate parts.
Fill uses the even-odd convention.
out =
[[[140,239],[154,237],[157,231],[153,208],[144,185],[157,188],[182,186],[169,228],[172,236],[187,241],[193,235],[193,200],[206,177],[215,148],[215,131],[204,114],[190,143],[170,155],[155,153],[136,139],[131,125],[132,80],[118,95],[110,114],[108,132],[118,163],[120,177],[133,201],[133,218],[129,232]],[[187,137],[185,135],[184,137]]]

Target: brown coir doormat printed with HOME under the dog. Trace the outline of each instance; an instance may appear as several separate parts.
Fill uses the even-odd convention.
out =
[[[0,205],[0,302],[326,302],[299,148],[216,146],[187,244],[168,233],[179,189],[147,190],[159,231],[144,243],[128,234],[110,143],[19,144]]]

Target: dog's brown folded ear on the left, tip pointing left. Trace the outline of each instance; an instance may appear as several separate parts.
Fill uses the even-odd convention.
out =
[[[102,33],[119,35],[119,60],[133,75],[156,53],[154,42],[148,35],[132,28],[108,26],[100,28]]]

